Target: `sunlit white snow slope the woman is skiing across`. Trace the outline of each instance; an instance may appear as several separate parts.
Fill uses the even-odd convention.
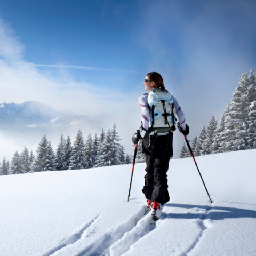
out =
[[[172,159],[170,201],[144,216],[145,163],[0,177],[1,255],[255,256],[256,150]]]

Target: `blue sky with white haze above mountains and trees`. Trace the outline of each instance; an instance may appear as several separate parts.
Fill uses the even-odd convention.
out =
[[[256,68],[255,13],[254,1],[2,0],[0,102],[108,106],[130,140],[143,79],[158,71],[198,135]]]

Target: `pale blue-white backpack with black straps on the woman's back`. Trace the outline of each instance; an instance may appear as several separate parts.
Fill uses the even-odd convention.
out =
[[[158,135],[166,135],[175,131],[174,100],[169,91],[153,89],[148,94],[150,109],[149,131]]]

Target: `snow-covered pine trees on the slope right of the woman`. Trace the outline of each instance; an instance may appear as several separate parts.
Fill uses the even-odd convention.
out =
[[[195,156],[223,153],[256,148],[256,76],[253,69],[250,75],[242,74],[233,98],[223,112],[219,124],[214,116],[198,138],[191,142]],[[185,146],[181,148],[180,158],[190,153]]]

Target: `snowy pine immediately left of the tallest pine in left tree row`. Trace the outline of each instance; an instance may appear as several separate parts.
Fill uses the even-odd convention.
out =
[[[96,161],[95,167],[103,167],[109,166],[111,163],[111,159],[113,156],[112,145],[111,145],[111,132],[110,129],[108,130],[107,134],[105,135],[104,141],[101,143],[99,147],[99,157]]]

